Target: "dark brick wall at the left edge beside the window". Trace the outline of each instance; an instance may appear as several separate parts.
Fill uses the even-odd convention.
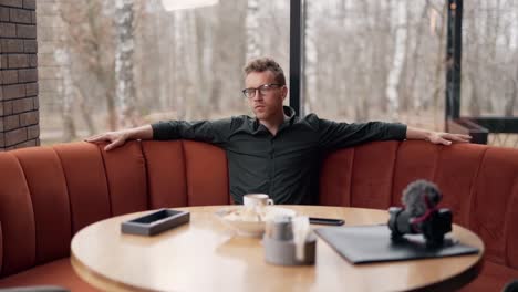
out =
[[[0,150],[40,145],[35,0],[0,0]]]

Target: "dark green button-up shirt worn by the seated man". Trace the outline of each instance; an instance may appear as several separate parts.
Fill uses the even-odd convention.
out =
[[[193,139],[227,152],[230,194],[268,194],[274,204],[317,204],[322,156],[333,149],[371,140],[405,139],[406,125],[336,123],[310,114],[303,118],[284,106],[289,117],[277,135],[249,116],[219,121],[169,121],[153,124],[153,138]]]

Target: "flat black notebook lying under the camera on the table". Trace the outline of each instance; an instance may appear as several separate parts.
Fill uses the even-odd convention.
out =
[[[478,253],[469,247],[445,237],[441,248],[427,248],[422,234],[405,236],[393,242],[386,225],[318,228],[315,233],[340,255],[352,263],[403,261]]]

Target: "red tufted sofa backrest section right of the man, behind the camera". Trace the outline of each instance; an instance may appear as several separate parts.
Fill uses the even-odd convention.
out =
[[[518,149],[406,140],[338,150],[324,160],[320,204],[401,206],[403,189],[416,179],[437,184],[439,206],[483,239],[487,260],[518,269]]]

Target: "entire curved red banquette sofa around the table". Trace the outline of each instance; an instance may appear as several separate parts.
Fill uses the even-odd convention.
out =
[[[230,204],[225,153],[189,142],[130,142],[112,152],[70,143],[0,153],[0,288],[94,291],[70,263],[75,232],[146,209]],[[322,166],[320,205],[386,209],[411,181],[438,185],[442,207],[485,243],[465,291],[518,279],[518,149],[376,142],[336,150]]]

